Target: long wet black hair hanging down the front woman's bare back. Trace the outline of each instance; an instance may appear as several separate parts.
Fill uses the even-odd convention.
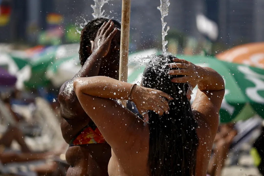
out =
[[[152,176],[195,175],[196,152],[199,140],[197,122],[192,115],[191,103],[186,97],[187,83],[172,83],[168,75],[171,55],[158,55],[147,64],[142,86],[161,90],[174,99],[169,101],[169,114],[159,116],[149,112],[148,167]],[[180,75],[181,76],[181,75]]]

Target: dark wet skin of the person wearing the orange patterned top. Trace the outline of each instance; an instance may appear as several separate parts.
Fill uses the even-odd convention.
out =
[[[108,25],[111,31],[115,31],[116,29],[113,27],[111,29],[110,23],[111,21],[105,25]],[[105,33],[107,33],[107,30]],[[110,36],[111,34],[108,33],[107,35]],[[102,47],[110,45],[109,51],[106,51],[107,49],[96,50],[96,48],[87,48],[88,53],[91,55],[82,69],[73,79],[65,82],[60,89],[61,130],[63,138],[68,144],[91,121],[91,118],[85,113],[76,97],[73,89],[73,81],[77,77],[92,77],[98,75],[118,79],[120,34],[120,30],[116,30],[114,37],[109,42],[101,44]],[[100,44],[97,46],[100,47]],[[71,146],[66,152],[66,160],[71,165],[67,175],[108,175],[107,166],[110,157],[111,147],[106,143]]]

